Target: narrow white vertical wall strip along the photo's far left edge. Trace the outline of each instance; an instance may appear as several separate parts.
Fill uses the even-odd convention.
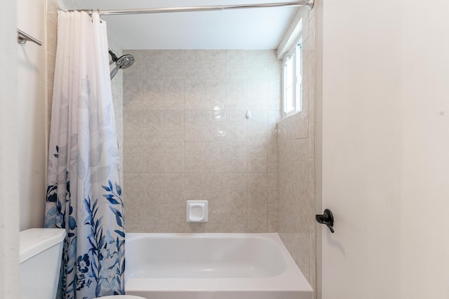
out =
[[[18,298],[18,140],[15,0],[0,10],[0,298]]]

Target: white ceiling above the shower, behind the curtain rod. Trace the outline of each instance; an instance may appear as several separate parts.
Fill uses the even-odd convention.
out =
[[[285,2],[285,0],[72,0],[78,9],[122,10]],[[276,49],[296,7],[194,13],[104,15],[123,49]]]

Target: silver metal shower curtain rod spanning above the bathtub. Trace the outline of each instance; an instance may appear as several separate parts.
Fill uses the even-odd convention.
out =
[[[269,8],[282,6],[306,6],[311,9],[314,7],[314,0],[302,0],[293,2],[279,2],[266,4],[238,4],[238,5],[218,5],[218,6],[192,6],[192,7],[167,7],[167,8],[143,8],[143,9],[126,9],[121,11],[100,11],[100,15],[136,15],[141,13],[185,13],[194,11],[225,11],[228,9],[239,8]],[[92,10],[79,10],[92,11]]]

